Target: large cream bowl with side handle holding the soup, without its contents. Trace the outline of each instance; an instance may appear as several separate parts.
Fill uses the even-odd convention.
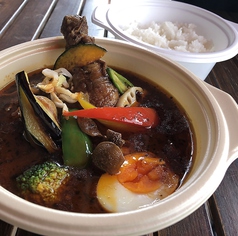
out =
[[[124,213],[83,214],[42,207],[0,187],[0,218],[44,235],[142,235],[168,227],[200,207],[237,158],[238,111],[228,94],[199,80],[167,58],[119,40],[96,39],[108,65],[136,72],[157,84],[185,110],[193,127],[193,164],[182,186],[148,207]],[[40,39],[0,53],[0,88],[52,65],[64,50],[62,37]]]

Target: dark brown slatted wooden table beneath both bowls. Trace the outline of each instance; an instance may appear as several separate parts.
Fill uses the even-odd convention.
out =
[[[29,40],[60,35],[62,18],[67,14],[85,15],[88,19],[89,35],[106,36],[104,29],[95,26],[90,20],[93,9],[106,3],[107,0],[0,0],[0,50]],[[238,23],[237,10],[217,14]],[[238,102],[238,56],[217,63],[206,82],[231,94]],[[236,236],[237,196],[238,160],[231,164],[216,192],[197,211],[177,224],[150,235]],[[0,235],[37,234],[0,220]]]

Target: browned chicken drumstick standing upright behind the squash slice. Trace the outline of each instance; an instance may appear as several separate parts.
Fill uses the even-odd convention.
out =
[[[61,32],[66,41],[66,49],[78,43],[94,43],[94,38],[88,36],[84,16],[65,16]],[[88,93],[89,102],[96,107],[115,106],[119,99],[119,92],[108,78],[106,67],[106,63],[99,60],[72,71],[72,90]]]

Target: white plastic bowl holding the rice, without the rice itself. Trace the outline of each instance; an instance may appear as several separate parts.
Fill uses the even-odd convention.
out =
[[[168,50],[150,43],[143,42],[122,28],[134,21],[140,22],[140,27],[146,27],[152,22],[173,22],[196,25],[197,35],[212,41],[214,50],[209,52],[186,52]],[[92,22],[109,30],[117,39],[145,47],[159,55],[166,56],[191,71],[204,80],[216,62],[234,57],[238,52],[238,25],[226,21],[218,15],[205,9],[175,1],[127,1],[122,4],[98,6],[92,14]],[[152,31],[152,30],[151,30]],[[148,36],[148,38],[153,38]],[[181,42],[179,42],[181,44]],[[197,41],[192,47],[199,48]],[[204,44],[204,43],[202,43]],[[210,47],[206,44],[206,47]],[[181,45],[180,45],[181,49]]]

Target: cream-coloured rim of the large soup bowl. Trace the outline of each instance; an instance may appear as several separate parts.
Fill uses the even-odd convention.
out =
[[[117,48],[118,51],[123,48],[128,53],[130,50],[139,54],[142,53],[154,62],[158,60],[161,63],[169,63],[176,67],[176,72],[184,74],[185,77],[191,77],[188,84],[200,91],[207,100],[210,112],[214,115],[214,122],[210,125],[213,126],[211,128],[215,130],[217,135],[215,141],[221,145],[212,148],[213,155],[209,157],[208,165],[203,167],[202,173],[196,173],[192,183],[185,183],[182,190],[179,189],[176,194],[169,196],[156,206],[148,206],[126,213],[78,214],[35,205],[0,187],[0,216],[3,220],[33,232],[48,235],[145,234],[165,228],[183,219],[201,206],[220,184],[227,168],[228,130],[224,115],[205,84],[178,64],[144,48],[135,47],[119,40],[97,39],[96,42],[102,46],[107,45],[108,48]],[[6,49],[0,53],[0,70],[12,60],[19,60],[22,56],[60,49],[63,45],[62,37],[54,37],[23,43]],[[178,198],[180,202],[178,202]],[[35,211],[37,211],[37,215]],[[158,215],[158,212],[163,212],[163,214]],[[153,219],[148,215],[153,215]]]

